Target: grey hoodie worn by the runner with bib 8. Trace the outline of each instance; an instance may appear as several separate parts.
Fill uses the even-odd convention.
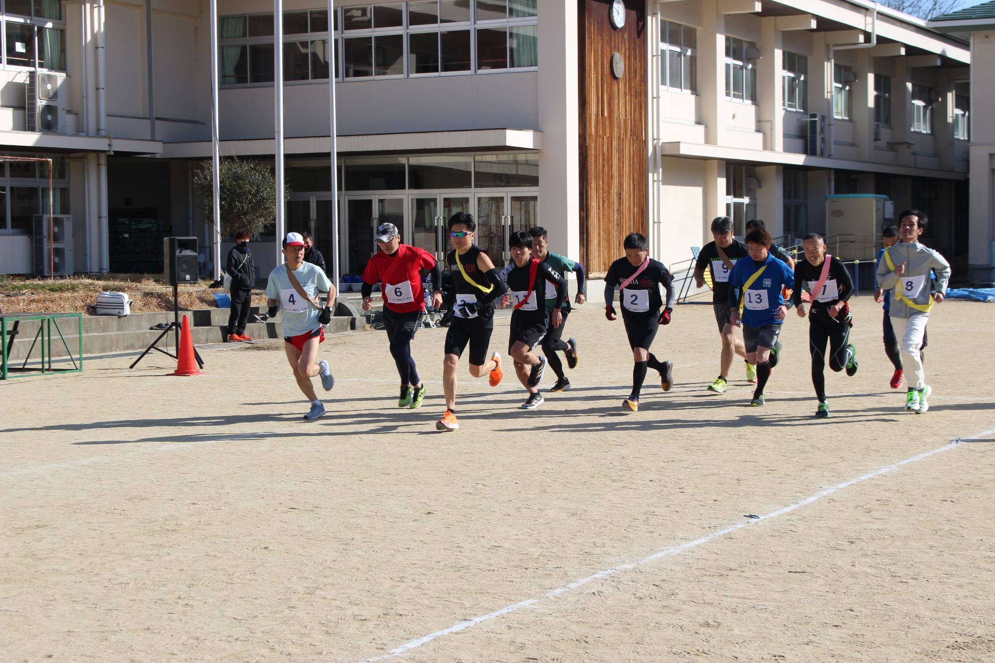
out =
[[[934,292],[945,296],[946,284],[950,280],[950,264],[939,253],[917,242],[898,242],[888,250],[888,253],[896,267],[902,263],[905,264],[905,273],[898,277],[895,271],[889,268],[885,256],[882,256],[881,262],[878,263],[878,287],[893,291],[891,316],[893,318],[910,318],[918,313],[928,316],[928,313],[912,309],[899,300],[896,296],[898,289],[902,289],[902,294],[908,301],[927,305],[929,304],[930,271],[936,273]],[[912,297],[912,294],[915,296]]]

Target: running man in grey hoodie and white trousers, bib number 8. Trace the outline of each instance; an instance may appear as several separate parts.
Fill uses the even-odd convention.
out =
[[[922,414],[929,409],[927,399],[932,389],[926,384],[919,348],[934,304],[943,301],[950,280],[950,264],[936,251],[919,244],[926,227],[926,215],[917,209],[905,210],[898,217],[901,242],[885,249],[878,264],[878,284],[892,290],[889,316],[901,348],[901,362],[911,375],[905,395],[905,411]],[[936,274],[936,291],[930,293],[930,274]]]

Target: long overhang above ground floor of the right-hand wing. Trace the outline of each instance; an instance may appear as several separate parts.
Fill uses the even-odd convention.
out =
[[[856,170],[858,172],[880,172],[907,177],[935,177],[937,179],[953,180],[967,179],[967,173],[952,172],[949,170],[911,168],[889,163],[852,161],[849,159],[809,156],[808,154],[795,154],[792,152],[743,149],[741,147],[718,147],[716,145],[702,145],[681,141],[660,143],[660,155],[693,159],[721,159],[723,161],[738,161],[742,163],[755,163],[757,165],[777,164],[816,170]]]

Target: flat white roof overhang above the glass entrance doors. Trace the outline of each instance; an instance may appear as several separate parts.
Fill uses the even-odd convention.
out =
[[[341,135],[337,152],[342,154],[397,154],[411,152],[471,151],[477,149],[540,149],[542,133],[529,129],[474,129],[466,131],[424,131],[414,133],[367,133]],[[273,155],[274,138],[222,140],[222,156]],[[331,137],[326,135],[284,139],[284,154],[327,154]],[[162,158],[209,158],[211,141],[170,142],[163,145]]]

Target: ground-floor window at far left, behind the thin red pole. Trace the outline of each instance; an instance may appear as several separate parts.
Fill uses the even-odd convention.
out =
[[[8,7],[11,3],[8,1]],[[53,154],[11,154],[52,159],[52,200],[56,214],[69,213],[66,157]],[[0,234],[30,235],[36,214],[49,211],[49,168],[44,161],[0,162]]]

